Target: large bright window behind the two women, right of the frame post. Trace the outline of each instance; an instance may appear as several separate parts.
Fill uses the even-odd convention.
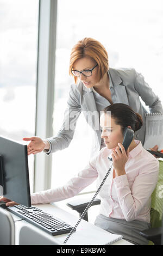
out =
[[[68,11],[67,11],[68,10]],[[58,1],[54,135],[64,117],[73,78],[68,76],[71,48],[84,37],[99,40],[112,68],[135,68],[163,102],[163,6],[161,0]],[[83,127],[85,125],[85,127]],[[80,115],[70,147],[53,154],[52,187],[63,185],[89,159],[91,128]],[[91,188],[88,188],[91,190]]]

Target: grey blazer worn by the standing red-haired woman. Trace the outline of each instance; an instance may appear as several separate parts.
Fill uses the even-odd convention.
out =
[[[133,108],[136,113],[140,113],[142,115],[143,126],[139,131],[135,132],[135,139],[139,139],[143,145],[146,125],[145,113],[147,113],[147,110],[143,106],[142,101],[149,107],[149,111],[151,113],[163,113],[161,101],[159,100],[159,97],[153,93],[152,88],[145,82],[143,76],[137,73],[134,69],[110,68],[108,72],[112,81],[110,86],[112,102],[125,103]],[[47,138],[47,141],[51,144],[51,148],[47,154],[51,154],[55,151],[68,147],[74,135],[74,129],[72,129],[72,127],[76,126],[76,122],[81,111],[83,111],[86,121],[88,120],[88,115],[97,111],[92,89],[85,88],[82,82],[71,85],[67,104],[68,106],[65,111],[65,117],[60,131],[57,136]],[[99,122],[99,118],[97,118],[96,121]],[[70,128],[70,126],[68,126],[70,123],[71,129],[67,129],[68,127]],[[93,122],[91,126],[93,129],[92,131],[95,133],[93,154],[101,148],[101,130],[96,130],[95,123]]]

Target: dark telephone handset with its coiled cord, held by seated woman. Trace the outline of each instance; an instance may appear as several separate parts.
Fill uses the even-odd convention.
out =
[[[124,132],[123,132],[123,142],[122,142],[122,145],[124,147],[124,149],[127,151],[129,145],[131,144],[131,141],[133,140],[134,138],[134,131],[129,129],[129,128],[125,128],[124,129]],[[121,149],[120,149],[121,150]],[[112,159],[110,159],[108,157],[109,160],[112,161]],[[80,216],[78,222],[76,223],[76,225],[74,226],[74,228],[72,228],[72,230],[70,231],[70,233],[68,234],[68,236],[66,237],[64,243],[66,243],[68,241],[68,239],[70,239],[70,236],[73,234],[74,231],[76,231],[76,228],[78,227],[79,223],[82,221],[83,217],[85,216],[87,210],[89,210],[89,208],[91,207],[93,201],[95,200],[95,198],[97,197],[97,194],[99,193],[99,191],[101,190],[102,186],[104,185],[104,182],[106,180],[106,178],[108,178],[108,175],[111,171],[111,168],[112,168],[112,163],[111,163],[111,167],[109,167],[109,170],[108,172],[105,174],[105,177],[103,179],[103,181],[101,182],[101,185],[99,185],[98,187],[98,190],[96,191],[96,193],[94,194],[94,196],[92,197],[92,200],[91,202],[86,206],[85,210],[83,211],[83,214]]]

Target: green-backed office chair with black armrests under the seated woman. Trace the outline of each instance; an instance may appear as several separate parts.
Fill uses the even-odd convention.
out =
[[[162,192],[161,192],[162,191]],[[89,198],[86,200],[74,200],[70,203],[67,203],[72,210],[76,210],[79,212],[79,216],[82,215],[86,206],[89,204]],[[93,205],[100,204],[101,200],[96,198]],[[159,160],[159,178],[158,183],[155,187],[155,190],[152,193],[151,200],[151,228],[147,230],[142,230],[140,234],[146,237],[147,240],[150,240],[149,245],[161,245],[163,243],[163,237],[161,242],[161,223],[162,221],[162,211],[163,211],[163,161]],[[88,221],[87,214],[84,217],[85,221]],[[163,231],[163,227],[162,227]],[[162,234],[163,236],[163,234]]]

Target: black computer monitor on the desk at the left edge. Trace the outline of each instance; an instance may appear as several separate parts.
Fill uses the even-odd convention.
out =
[[[0,196],[31,206],[27,145],[4,137],[0,137],[0,186]]]

